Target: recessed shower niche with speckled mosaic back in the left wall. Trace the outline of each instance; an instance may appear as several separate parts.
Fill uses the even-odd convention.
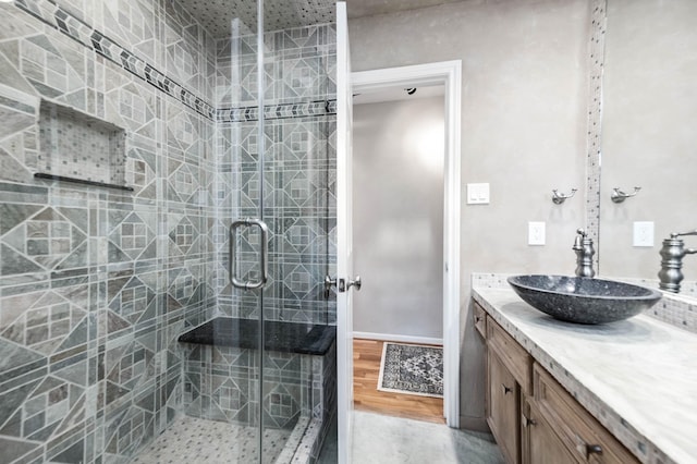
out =
[[[75,181],[125,184],[125,130],[41,100],[37,172]]]

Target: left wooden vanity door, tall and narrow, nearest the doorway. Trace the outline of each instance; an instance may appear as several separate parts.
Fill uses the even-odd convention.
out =
[[[497,354],[488,351],[487,423],[508,463],[521,462],[521,389]]]

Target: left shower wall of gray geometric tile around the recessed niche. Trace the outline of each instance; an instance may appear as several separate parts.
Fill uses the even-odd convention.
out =
[[[0,462],[127,462],[182,410],[176,338],[215,308],[213,42],[166,0],[0,9]],[[134,192],[34,180],[39,101],[123,127],[112,172],[66,169]]]

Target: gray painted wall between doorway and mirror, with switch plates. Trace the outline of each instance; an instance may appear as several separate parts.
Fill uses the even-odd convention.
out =
[[[462,60],[461,425],[486,428],[469,276],[573,272],[584,225],[590,11],[584,0],[458,2],[350,21],[354,71]],[[489,182],[489,205],[465,184]],[[577,187],[553,205],[551,190]],[[547,245],[527,245],[527,222]]]

